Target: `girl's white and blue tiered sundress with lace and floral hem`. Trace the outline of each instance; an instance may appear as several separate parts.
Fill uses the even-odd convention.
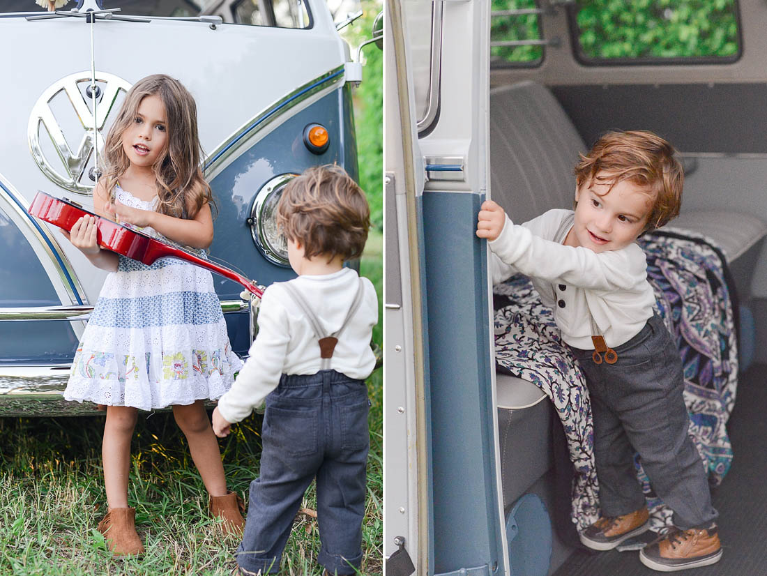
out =
[[[119,186],[115,196],[134,208],[156,206]],[[240,367],[209,271],[178,258],[147,266],[120,256],[77,346],[64,398],[141,410],[217,400]]]

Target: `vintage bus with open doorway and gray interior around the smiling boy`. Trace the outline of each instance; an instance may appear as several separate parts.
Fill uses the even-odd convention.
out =
[[[579,545],[572,518],[598,513],[583,388],[541,370],[566,364],[555,331],[524,278],[491,286],[474,234],[486,198],[516,222],[571,208],[578,153],[610,129],[680,152],[681,216],[640,243],[715,486],[705,572],[764,573],[765,25],[735,0],[388,0],[387,574],[653,574],[641,542]]]

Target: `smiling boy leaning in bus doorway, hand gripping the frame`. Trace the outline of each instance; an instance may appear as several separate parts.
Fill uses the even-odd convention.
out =
[[[644,252],[634,243],[679,214],[683,171],[673,147],[644,131],[611,132],[575,166],[575,209],[515,225],[490,200],[476,235],[489,240],[493,282],[532,277],[583,370],[594,417],[601,517],[581,534],[610,550],[649,528],[634,469],[639,453],[676,527],[640,551],[658,571],[722,557],[703,462],[687,435],[682,363],[653,311]],[[555,303],[555,305],[553,305]]]

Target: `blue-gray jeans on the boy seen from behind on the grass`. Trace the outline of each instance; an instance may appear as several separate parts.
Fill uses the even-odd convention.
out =
[[[279,571],[282,551],[308,485],[317,478],[318,562],[355,574],[362,561],[367,451],[367,386],[335,370],[282,375],[266,398],[261,475],[250,485],[237,563]]]

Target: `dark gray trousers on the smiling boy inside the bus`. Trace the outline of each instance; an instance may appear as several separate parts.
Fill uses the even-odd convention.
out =
[[[687,434],[682,361],[663,320],[656,314],[639,334],[616,347],[615,364],[595,364],[593,350],[571,351],[591,396],[602,515],[644,506],[636,451],[653,491],[673,510],[677,528],[711,525],[718,513],[703,462]]]

